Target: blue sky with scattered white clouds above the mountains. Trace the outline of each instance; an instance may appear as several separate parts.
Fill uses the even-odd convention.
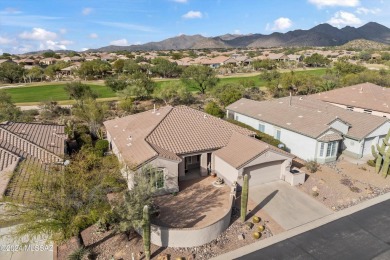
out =
[[[390,0],[1,0],[0,53],[270,34],[325,22],[390,27],[389,14]]]

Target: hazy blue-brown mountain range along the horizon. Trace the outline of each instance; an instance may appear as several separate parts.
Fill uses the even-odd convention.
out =
[[[184,50],[184,49],[217,49],[217,48],[259,48],[259,47],[293,47],[293,46],[340,46],[349,41],[363,39],[383,44],[390,44],[390,29],[381,24],[370,22],[359,28],[351,26],[338,29],[329,24],[320,24],[309,30],[294,30],[287,33],[225,34],[216,37],[202,35],[180,35],[160,42],[142,45],[107,46],[95,50],[112,52],[119,50]]]

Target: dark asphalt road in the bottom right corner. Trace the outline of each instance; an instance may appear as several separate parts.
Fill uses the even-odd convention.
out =
[[[236,259],[390,259],[390,200]]]

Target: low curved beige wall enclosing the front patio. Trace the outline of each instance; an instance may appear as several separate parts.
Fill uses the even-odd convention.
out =
[[[200,228],[167,228],[152,224],[151,242],[162,247],[193,247],[209,243],[230,224],[235,191],[230,194],[230,209],[211,225]]]

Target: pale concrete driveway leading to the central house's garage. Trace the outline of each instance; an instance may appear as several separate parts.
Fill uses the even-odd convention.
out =
[[[333,213],[314,198],[280,180],[249,188],[249,198],[289,230]]]

